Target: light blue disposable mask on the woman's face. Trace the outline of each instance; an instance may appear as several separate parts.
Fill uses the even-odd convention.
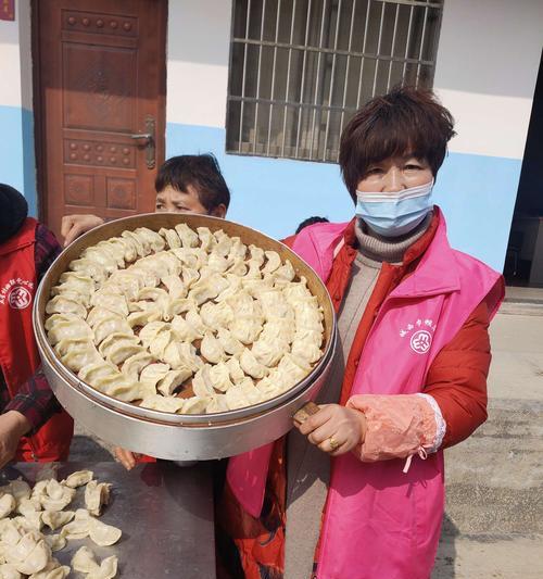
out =
[[[356,215],[376,234],[399,237],[415,229],[432,209],[433,179],[394,193],[356,191]]]

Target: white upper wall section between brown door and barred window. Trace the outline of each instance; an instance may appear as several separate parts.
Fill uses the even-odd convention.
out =
[[[224,128],[231,0],[171,0],[166,121]]]

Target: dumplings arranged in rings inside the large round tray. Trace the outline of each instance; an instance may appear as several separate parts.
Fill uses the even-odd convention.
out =
[[[216,413],[292,388],[321,357],[323,310],[275,251],[186,224],[87,248],[52,288],[48,339],[101,392]]]

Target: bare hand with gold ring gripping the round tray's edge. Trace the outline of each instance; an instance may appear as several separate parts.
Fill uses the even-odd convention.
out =
[[[366,436],[364,414],[339,404],[323,404],[319,412],[294,425],[312,444],[331,456],[353,450]]]

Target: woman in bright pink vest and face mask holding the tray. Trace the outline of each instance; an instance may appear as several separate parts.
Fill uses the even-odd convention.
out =
[[[428,579],[444,508],[445,446],[487,417],[489,322],[500,274],[447,242],[432,187],[453,118],[400,88],[345,127],[348,224],[292,248],[326,282],[339,348],[321,410],[230,460],[217,508],[219,575]]]

